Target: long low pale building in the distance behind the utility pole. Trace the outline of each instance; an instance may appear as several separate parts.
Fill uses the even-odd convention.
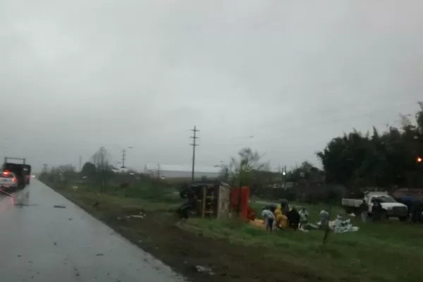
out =
[[[217,178],[220,170],[221,168],[214,166],[195,166],[194,177]],[[144,173],[161,178],[190,178],[192,167],[178,164],[146,164]]]

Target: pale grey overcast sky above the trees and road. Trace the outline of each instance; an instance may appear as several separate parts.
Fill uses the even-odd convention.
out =
[[[39,170],[309,160],[423,99],[423,1],[0,0],[0,142]],[[253,136],[253,137],[252,137]]]

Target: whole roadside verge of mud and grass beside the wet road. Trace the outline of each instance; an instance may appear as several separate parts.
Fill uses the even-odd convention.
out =
[[[233,219],[189,219],[176,225],[168,212],[178,206],[176,196],[142,200],[87,189],[58,191],[195,281],[417,282],[423,277],[422,228],[408,223],[355,222],[360,231],[331,234],[322,249],[321,231],[267,233]],[[321,207],[307,208],[317,220]],[[145,219],[118,219],[140,210]],[[212,268],[215,275],[197,273],[197,265]]]

